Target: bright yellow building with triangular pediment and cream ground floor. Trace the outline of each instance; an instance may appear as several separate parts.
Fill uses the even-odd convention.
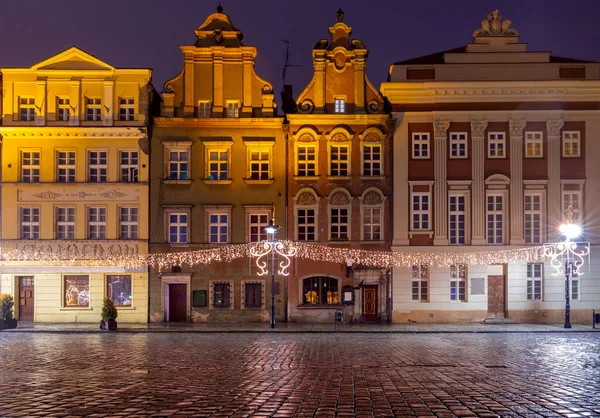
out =
[[[118,321],[146,322],[147,267],[103,259],[148,252],[152,71],[76,47],[0,71],[0,293],[22,321],[96,322],[109,297]]]

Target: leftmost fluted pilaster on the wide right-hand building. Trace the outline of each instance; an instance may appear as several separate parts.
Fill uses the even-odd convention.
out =
[[[435,199],[433,212],[435,214],[433,245],[448,245],[448,128],[450,121],[436,119],[433,121],[435,134],[434,178]]]

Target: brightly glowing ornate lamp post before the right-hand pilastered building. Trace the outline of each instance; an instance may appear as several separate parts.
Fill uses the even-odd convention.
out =
[[[584,257],[590,253],[590,247],[587,243],[577,243],[571,241],[581,234],[581,227],[573,223],[573,206],[566,210],[567,221],[560,225],[559,231],[564,235],[565,240],[558,244],[547,245],[544,248],[544,255],[550,258],[550,265],[554,268],[553,276],[564,274],[565,276],[565,328],[571,328],[571,291],[569,279],[572,275],[580,276],[583,274]],[[564,259],[564,264],[563,264]]]

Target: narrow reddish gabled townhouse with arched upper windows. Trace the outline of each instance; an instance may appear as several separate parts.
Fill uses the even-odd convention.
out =
[[[288,236],[337,248],[389,251],[391,119],[366,73],[368,50],[341,10],[312,51],[314,75],[288,114]],[[289,320],[388,322],[388,269],[296,259]],[[347,305],[342,304],[348,295]]]

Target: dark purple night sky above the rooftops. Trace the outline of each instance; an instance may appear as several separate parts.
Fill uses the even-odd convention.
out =
[[[600,61],[600,0],[222,0],[224,12],[258,48],[257,73],[281,88],[290,41],[288,84],[297,96],[312,76],[311,50],[342,7],[352,36],[369,48],[367,74],[375,87],[389,64],[465,45],[495,8],[512,20],[529,50]],[[76,45],[115,67],[154,69],[154,85],[182,68],[179,45],[218,0],[2,0],[0,67],[29,67]],[[279,95],[277,94],[278,98]]]

